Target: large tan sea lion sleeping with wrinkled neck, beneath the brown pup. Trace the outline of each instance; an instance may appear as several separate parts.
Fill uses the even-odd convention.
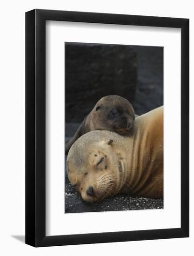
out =
[[[163,107],[135,119],[134,135],[92,131],[67,155],[72,186],[87,202],[128,193],[163,198]]]

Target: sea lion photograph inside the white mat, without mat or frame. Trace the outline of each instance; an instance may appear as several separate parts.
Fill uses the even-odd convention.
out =
[[[163,47],[65,42],[65,214],[163,209]]]

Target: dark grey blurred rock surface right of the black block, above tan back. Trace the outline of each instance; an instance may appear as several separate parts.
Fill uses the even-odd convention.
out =
[[[163,47],[136,46],[137,87],[133,107],[137,115],[163,105]]]

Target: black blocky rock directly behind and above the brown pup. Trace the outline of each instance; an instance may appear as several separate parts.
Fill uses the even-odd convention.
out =
[[[65,43],[66,121],[83,121],[103,96],[132,102],[136,66],[133,46]]]

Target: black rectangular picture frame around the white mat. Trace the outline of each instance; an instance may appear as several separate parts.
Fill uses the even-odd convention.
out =
[[[46,236],[46,20],[181,28],[181,228]],[[189,19],[34,9],[26,13],[26,243],[34,247],[189,236]]]

